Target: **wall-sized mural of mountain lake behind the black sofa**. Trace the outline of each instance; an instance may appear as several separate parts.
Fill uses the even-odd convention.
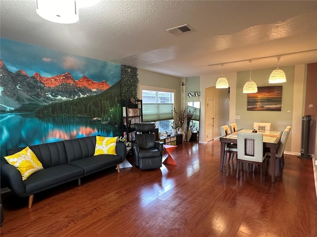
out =
[[[0,152],[122,136],[121,65],[0,38]]]

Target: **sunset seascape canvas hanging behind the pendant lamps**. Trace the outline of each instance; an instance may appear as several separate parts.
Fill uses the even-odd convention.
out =
[[[258,87],[258,93],[248,94],[248,111],[281,111],[282,86]]]

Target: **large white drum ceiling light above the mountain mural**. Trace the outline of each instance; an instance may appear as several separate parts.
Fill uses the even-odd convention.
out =
[[[72,24],[79,20],[76,0],[36,0],[36,12],[55,23]]]

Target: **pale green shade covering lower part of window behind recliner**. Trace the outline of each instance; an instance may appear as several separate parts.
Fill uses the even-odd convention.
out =
[[[143,104],[143,121],[153,122],[173,119],[174,104]]]

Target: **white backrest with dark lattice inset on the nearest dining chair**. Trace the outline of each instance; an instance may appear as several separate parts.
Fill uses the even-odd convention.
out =
[[[263,133],[238,132],[238,159],[263,161]]]

